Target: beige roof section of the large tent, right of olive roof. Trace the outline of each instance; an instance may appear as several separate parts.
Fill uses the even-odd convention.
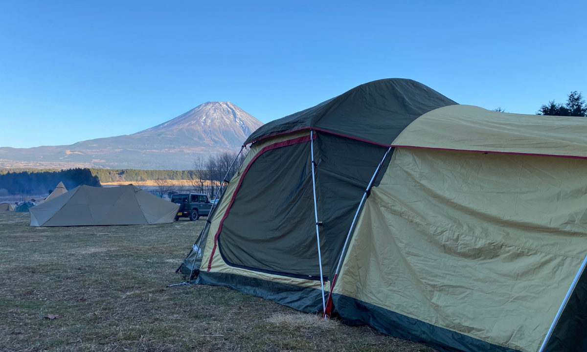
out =
[[[451,105],[414,120],[393,145],[587,158],[587,117],[510,114]]]

